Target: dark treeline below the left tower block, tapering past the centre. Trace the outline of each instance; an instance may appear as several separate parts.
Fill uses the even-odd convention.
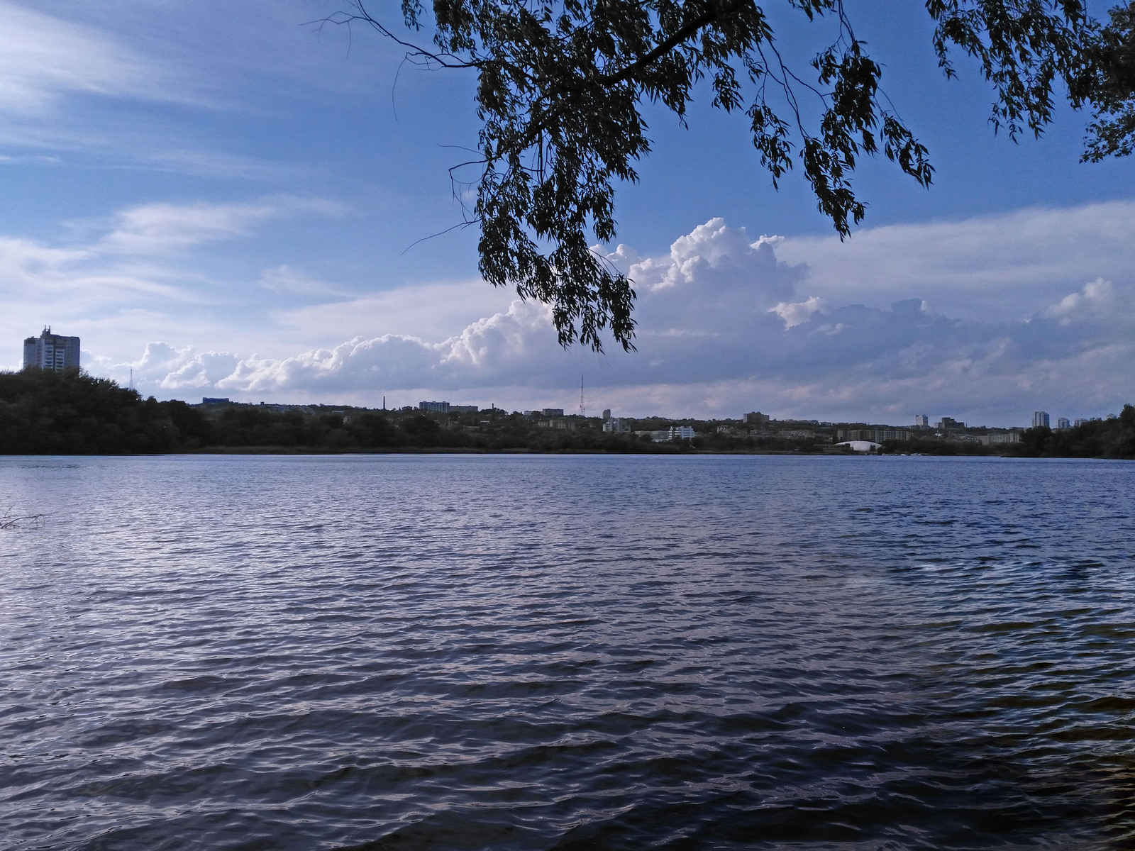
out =
[[[537,429],[527,418],[496,412],[488,427],[413,412],[268,405],[196,406],[142,398],[109,379],[45,370],[0,372],[0,454],[84,455],[207,449],[367,452],[672,453],[689,445],[644,443],[629,435]]]

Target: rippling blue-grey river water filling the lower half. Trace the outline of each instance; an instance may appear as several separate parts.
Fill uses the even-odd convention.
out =
[[[0,458],[0,848],[1130,848],[1133,485]]]

